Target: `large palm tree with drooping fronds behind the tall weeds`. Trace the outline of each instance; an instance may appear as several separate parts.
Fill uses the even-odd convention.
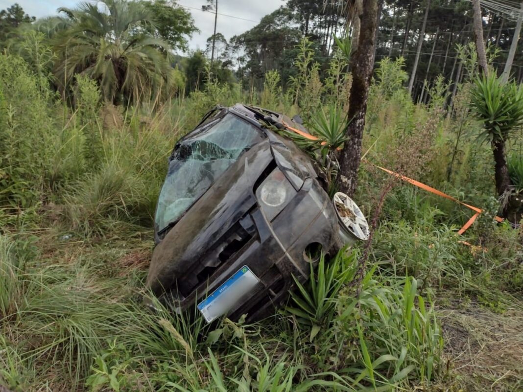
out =
[[[59,12],[69,21],[54,37],[56,81],[63,91],[84,74],[97,80],[104,98],[116,105],[170,85],[169,45],[146,33],[144,27],[154,26],[154,20],[142,4],[102,0]]]

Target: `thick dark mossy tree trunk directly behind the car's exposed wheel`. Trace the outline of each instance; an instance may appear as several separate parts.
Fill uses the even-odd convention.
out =
[[[358,181],[361,160],[361,139],[365,128],[365,114],[369,97],[369,85],[374,63],[374,36],[378,24],[378,0],[366,0],[360,18],[358,49],[351,61],[353,84],[350,88],[349,124],[346,130],[347,141],[340,154],[340,175],[338,187],[342,192],[353,195]]]

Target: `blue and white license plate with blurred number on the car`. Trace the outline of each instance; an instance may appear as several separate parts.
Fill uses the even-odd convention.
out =
[[[254,289],[259,279],[247,266],[240,268],[211,295],[198,304],[207,322],[217,319],[227,313],[249,291]]]

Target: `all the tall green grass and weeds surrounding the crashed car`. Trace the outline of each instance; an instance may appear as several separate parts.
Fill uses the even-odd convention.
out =
[[[143,281],[167,157],[212,105],[249,94],[209,83],[154,111],[145,103],[115,108],[83,79],[71,109],[42,93],[16,57],[0,57],[0,70],[0,385],[15,392],[521,387],[517,230],[485,214],[459,237],[470,211],[394,183],[361,281],[355,273],[366,253],[356,248],[322,257],[287,309],[256,324],[207,325],[196,309],[151,313]],[[399,69],[386,72],[369,99],[366,158],[496,213],[488,147],[461,135],[459,169],[447,182],[456,120],[414,105],[396,83]],[[298,110],[290,96],[276,96],[276,82],[268,88],[262,97],[274,109]],[[362,167],[355,198],[369,218],[389,183]]]

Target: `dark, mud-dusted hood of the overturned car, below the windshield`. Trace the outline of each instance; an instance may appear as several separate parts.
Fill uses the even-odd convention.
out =
[[[201,269],[204,256],[256,205],[253,187],[273,160],[268,140],[247,151],[169,230],[154,250],[146,286],[155,295]]]

